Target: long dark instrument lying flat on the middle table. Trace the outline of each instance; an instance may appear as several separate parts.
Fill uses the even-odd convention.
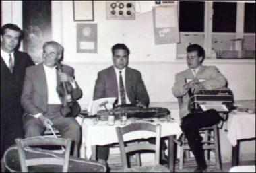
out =
[[[97,116],[100,120],[108,120],[110,112],[113,113],[115,119],[120,119],[122,113],[127,114],[127,118],[164,118],[170,114],[167,108],[152,107],[152,108],[114,108],[113,110],[99,110]]]

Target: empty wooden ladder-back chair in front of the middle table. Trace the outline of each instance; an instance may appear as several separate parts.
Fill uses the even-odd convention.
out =
[[[116,127],[117,137],[119,141],[121,160],[125,172],[170,172],[168,168],[160,165],[160,133],[161,125],[152,125],[150,123],[131,123],[125,127]],[[127,145],[123,140],[123,135],[126,133],[132,133],[133,131],[152,131],[156,133],[156,144],[150,143],[130,143]],[[139,139],[138,139],[139,140]],[[134,168],[129,168],[127,153],[142,150],[155,151],[154,166],[140,166],[137,165]],[[138,163],[137,163],[138,164]]]

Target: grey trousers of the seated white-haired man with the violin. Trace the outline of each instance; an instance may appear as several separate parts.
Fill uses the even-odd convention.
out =
[[[81,128],[73,117],[63,117],[60,114],[60,105],[49,104],[46,114],[44,114],[53,122],[53,127],[60,131],[61,137],[72,139],[72,155],[77,157],[79,151],[79,141],[81,138]],[[40,136],[46,130],[39,118],[34,118],[28,114],[24,115],[25,137]]]

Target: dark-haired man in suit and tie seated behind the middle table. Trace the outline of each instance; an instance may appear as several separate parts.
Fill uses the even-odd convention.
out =
[[[94,88],[94,100],[99,98],[116,97],[117,105],[133,104],[134,106],[147,107],[150,99],[143,83],[141,73],[128,66],[129,48],[125,44],[115,44],[112,47],[113,66],[98,73]],[[150,139],[150,143],[155,141]],[[163,143],[164,145],[165,143]],[[162,146],[166,149],[166,145]],[[164,150],[162,150],[164,151]],[[108,147],[98,146],[97,156],[107,160]],[[162,153],[162,158],[165,155]],[[166,158],[164,158],[166,160]]]

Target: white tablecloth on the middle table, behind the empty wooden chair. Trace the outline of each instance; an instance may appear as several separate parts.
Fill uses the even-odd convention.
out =
[[[137,122],[137,120],[136,120]],[[82,122],[82,145],[80,149],[81,158],[90,158],[92,155],[92,146],[94,145],[107,145],[111,143],[118,143],[117,133],[115,127],[121,126],[120,121],[115,121],[115,125],[107,125],[107,121],[99,121],[94,125],[93,119],[84,119]],[[127,122],[128,123],[131,123]],[[161,124],[161,137],[169,135],[180,135],[181,128],[178,122],[162,122],[155,120],[153,124]],[[133,139],[148,139],[154,137],[155,133],[148,131],[135,131],[124,135],[124,140],[129,141]],[[86,147],[86,153],[85,153]]]

